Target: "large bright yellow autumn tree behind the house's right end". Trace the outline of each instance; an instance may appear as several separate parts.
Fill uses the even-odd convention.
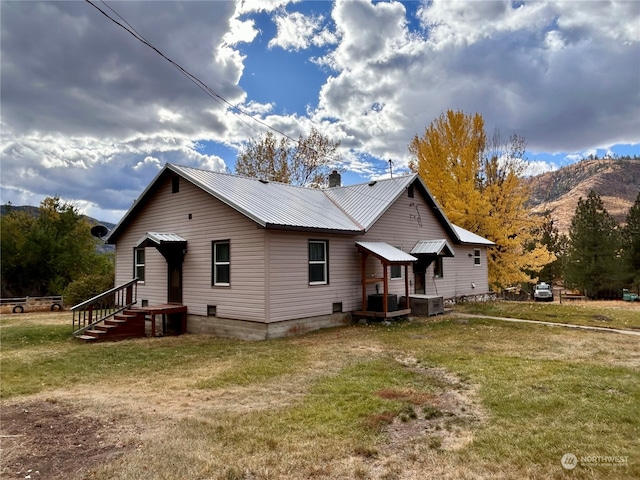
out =
[[[478,113],[449,110],[409,145],[410,168],[418,172],[447,217],[491,240],[489,283],[496,290],[535,283],[532,275],[555,260],[534,236],[541,219],[526,208],[525,142],[490,138]]]

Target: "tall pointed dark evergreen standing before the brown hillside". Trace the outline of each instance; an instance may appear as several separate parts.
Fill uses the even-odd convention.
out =
[[[592,298],[614,296],[621,266],[618,224],[593,190],[579,198],[569,238],[567,284]]]

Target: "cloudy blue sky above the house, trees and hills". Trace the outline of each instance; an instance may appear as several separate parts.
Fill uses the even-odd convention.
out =
[[[364,182],[449,109],[524,137],[531,173],[640,156],[635,0],[2,0],[0,22],[2,204],[116,223],[167,162],[234,172],[312,127]]]

